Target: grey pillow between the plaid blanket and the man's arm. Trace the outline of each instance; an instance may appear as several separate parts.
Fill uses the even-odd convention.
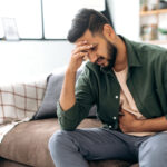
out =
[[[81,73],[81,69],[77,72],[77,78]],[[32,120],[55,118],[57,117],[57,101],[59,100],[62,82],[63,82],[65,71],[61,71],[56,75],[50,75],[48,77],[48,84],[43,101],[39,110],[32,117]],[[96,117],[96,106],[94,106],[89,111],[89,117]]]

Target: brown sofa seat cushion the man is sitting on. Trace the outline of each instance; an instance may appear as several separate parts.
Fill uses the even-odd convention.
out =
[[[85,119],[78,128],[101,127],[97,119]],[[48,140],[59,130],[57,118],[22,122],[9,131],[0,144],[0,157],[32,167],[55,167],[48,150]],[[101,160],[90,167],[127,167],[127,163]],[[1,164],[0,164],[1,166]]]

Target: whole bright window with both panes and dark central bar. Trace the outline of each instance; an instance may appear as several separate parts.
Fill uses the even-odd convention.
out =
[[[106,7],[105,0],[0,0],[0,38],[7,31],[3,20],[9,19],[14,20],[20,39],[66,39],[80,8],[92,8],[109,17]]]

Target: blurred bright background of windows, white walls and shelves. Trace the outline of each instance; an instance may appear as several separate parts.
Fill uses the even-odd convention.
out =
[[[118,35],[167,48],[167,0],[0,0],[0,84],[67,66],[66,36],[80,8],[105,13]]]

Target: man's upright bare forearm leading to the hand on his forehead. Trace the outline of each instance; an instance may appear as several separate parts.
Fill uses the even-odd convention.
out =
[[[60,95],[60,106],[65,111],[76,104],[75,84],[76,84],[76,72],[67,69]]]

